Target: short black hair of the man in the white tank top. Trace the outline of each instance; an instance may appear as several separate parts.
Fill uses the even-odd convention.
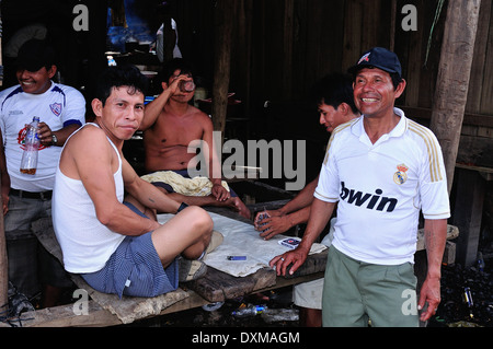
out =
[[[131,93],[141,92],[146,95],[149,80],[131,65],[107,67],[98,79],[95,98],[100,100],[104,106],[112,90],[121,86],[129,86],[130,91],[134,91]]]

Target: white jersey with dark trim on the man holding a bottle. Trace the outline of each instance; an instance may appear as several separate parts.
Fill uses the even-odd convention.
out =
[[[25,125],[38,116],[39,121],[57,131],[70,124],[85,121],[85,101],[73,88],[51,82],[42,94],[24,93],[20,85],[0,94],[0,126],[5,148],[7,168],[11,187],[26,191],[51,190],[61,147],[39,147],[35,175],[22,174],[21,158],[24,147]]]

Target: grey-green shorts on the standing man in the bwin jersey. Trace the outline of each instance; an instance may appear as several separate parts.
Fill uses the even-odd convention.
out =
[[[323,286],[323,326],[368,326],[368,319],[375,327],[419,326],[413,265],[367,264],[331,246]]]

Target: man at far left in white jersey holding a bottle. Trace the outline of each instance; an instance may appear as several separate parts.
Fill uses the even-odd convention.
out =
[[[50,217],[51,190],[61,147],[68,136],[85,120],[85,101],[82,94],[73,88],[51,81],[57,72],[55,62],[55,51],[46,42],[27,40],[20,48],[16,59],[19,84],[0,94],[0,125],[11,179],[9,212],[4,221],[8,253],[9,242],[16,241],[19,244],[20,241],[28,241],[20,240],[20,236],[32,236],[30,228],[33,221]],[[20,165],[26,124],[34,116],[41,120],[41,146],[36,173],[30,175],[21,173]],[[35,258],[32,263],[26,263],[30,256],[9,254],[8,257],[9,279],[12,283],[27,296],[37,293]],[[42,270],[41,276],[44,278],[54,269],[42,265]],[[49,280],[42,282],[54,284]]]

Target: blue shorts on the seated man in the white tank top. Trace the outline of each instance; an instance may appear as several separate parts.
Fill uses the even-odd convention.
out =
[[[133,205],[126,205],[144,216]],[[177,260],[164,269],[151,234],[126,236],[101,270],[82,274],[81,277],[96,291],[115,293],[119,298],[157,296],[176,290]]]

